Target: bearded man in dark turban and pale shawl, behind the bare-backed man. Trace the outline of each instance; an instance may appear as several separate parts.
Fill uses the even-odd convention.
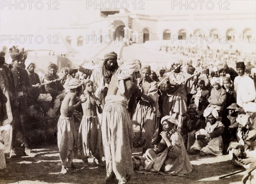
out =
[[[93,81],[95,96],[99,98],[102,109],[105,104],[105,96],[108,93],[108,85],[117,68],[117,54],[112,51],[104,55],[103,65],[94,69],[90,77],[90,79]],[[101,123],[102,115],[98,114],[98,116],[99,122]]]

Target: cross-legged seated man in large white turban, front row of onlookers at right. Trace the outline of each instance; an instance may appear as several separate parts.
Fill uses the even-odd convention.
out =
[[[190,147],[189,153],[206,155],[222,155],[223,142],[221,134],[224,132],[224,125],[217,121],[218,112],[215,109],[205,109],[204,117],[207,118],[205,129],[195,133],[195,143]]]

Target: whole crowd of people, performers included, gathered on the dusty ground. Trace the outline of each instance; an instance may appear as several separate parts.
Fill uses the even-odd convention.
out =
[[[207,58],[223,56],[223,51],[209,52],[204,52]],[[229,153],[234,164],[247,169],[245,183],[255,170],[255,66],[236,60],[235,70],[227,57],[212,70],[204,56],[197,60],[196,48],[183,53],[194,53],[191,57],[199,64],[177,59],[171,68],[153,71],[138,59],[122,60],[110,52],[93,70],[79,66],[57,74],[58,66],[50,63],[40,81],[35,63],[24,64],[22,50],[11,51],[11,65],[1,52],[0,125],[12,125],[10,158],[18,154],[18,131],[24,153],[35,156],[28,117],[34,114],[31,109],[41,108],[56,122],[52,135],[58,138],[63,174],[75,167],[78,151],[84,167],[93,156],[96,164],[106,167],[106,182],[116,177],[119,183],[129,181],[134,170],[191,173],[188,154]],[[142,147],[142,155],[132,156],[133,147]]]

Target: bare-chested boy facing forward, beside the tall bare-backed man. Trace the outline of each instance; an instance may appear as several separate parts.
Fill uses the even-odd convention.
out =
[[[84,80],[84,96],[86,102],[82,103],[83,118],[79,127],[79,150],[84,161],[84,167],[88,167],[88,156],[91,154],[93,160],[96,159],[99,166],[104,166],[102,162],[102,136],[99,125],[99,118],[96,109],[102,113],[99,99],[93,94],[93,81]]]

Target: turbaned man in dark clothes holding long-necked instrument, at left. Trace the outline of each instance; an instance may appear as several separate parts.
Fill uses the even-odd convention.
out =
[[[56,74],[58,70],[58,66],[54,63],[50,63],[48,66],[48,74],[44,78],[44,82],[49,82],[55,79],[58,79],[58,75]],[[44,85],[45,90],[47,93],[50,93],[52,96],[52,104],[56,97],[62,93],[64,87],[61,85],[60,81],[51,82],[49,84]]]

